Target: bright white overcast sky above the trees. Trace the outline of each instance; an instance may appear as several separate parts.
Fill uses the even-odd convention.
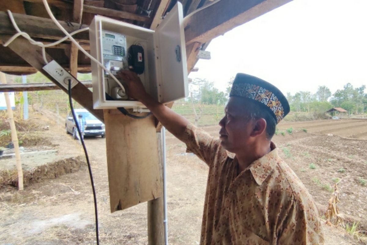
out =
[[[224,90],[237,72],[284,94],[367,85],[367,0],[294,0],[212,40],[190,78]]]

